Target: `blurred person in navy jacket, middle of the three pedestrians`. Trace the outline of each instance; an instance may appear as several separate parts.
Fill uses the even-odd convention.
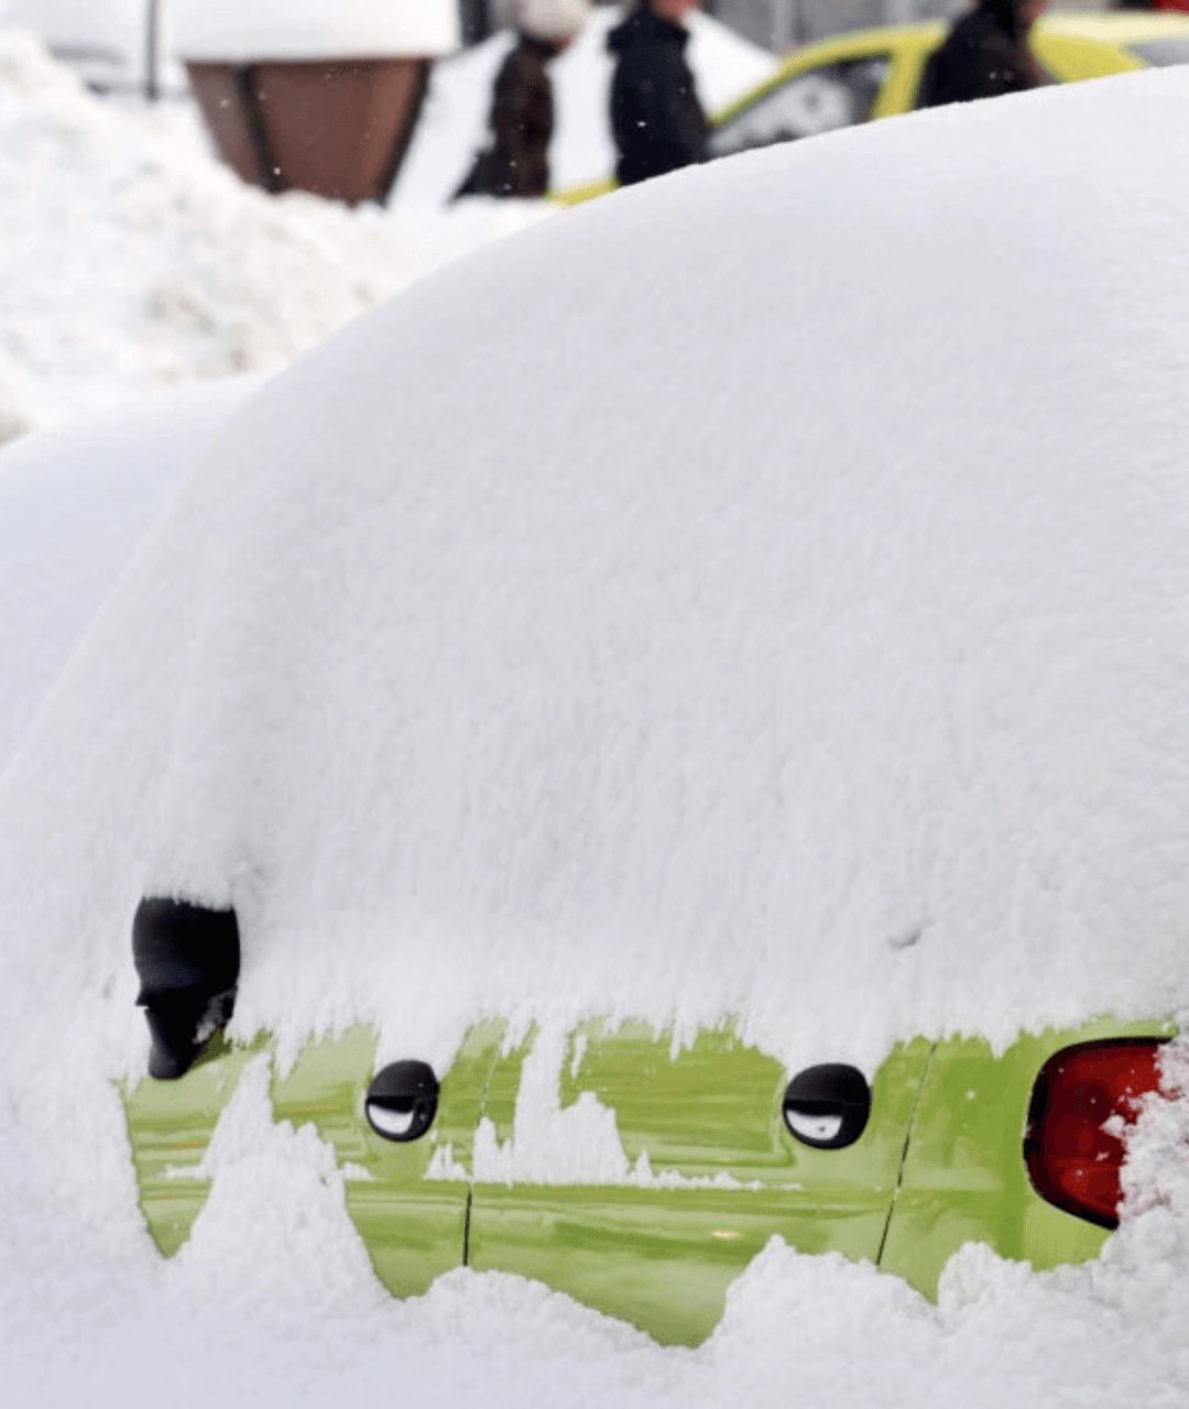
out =
[[[607,35],[618,61],[611,131],[621,186],[706,161],[706,114],[685,58],[685,17],[696,8],[697,0],[641,0]]]

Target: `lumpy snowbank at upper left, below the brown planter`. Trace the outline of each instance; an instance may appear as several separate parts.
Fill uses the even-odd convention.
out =
[[[465,223],[244,186],[189,107],[86,93],[0,31],[0,441],[155,386],[269,372],[540,207]]]

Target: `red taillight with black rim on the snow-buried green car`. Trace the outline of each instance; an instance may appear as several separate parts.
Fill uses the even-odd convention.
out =
[[[1041,1198],[1102,1227],[1119,1227],[1127,1151],[1103,1124],[1112,1116],[1133,1122],[1140,1098],[1159,1091],[1161,1045],[1158,1038],[1086,1043],[1044,1064],[1024,1136],[1024,1160]]]

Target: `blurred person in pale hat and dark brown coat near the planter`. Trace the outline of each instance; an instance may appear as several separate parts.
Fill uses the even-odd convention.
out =
[[[496,75],[493,142],[479,152],[459,196],[540,199],[549,189],[554,89],[548,63],[583,30],[589,0],[517,0],[516,48]]]

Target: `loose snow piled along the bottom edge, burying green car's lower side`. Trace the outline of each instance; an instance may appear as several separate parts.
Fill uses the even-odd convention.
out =
[[[431,1409],[1178,1409],[1189,1396],[1183,1205],[1162,1241],[1148,1240],[1148,1212],[1099,1262],[1052,1274],[969,1246],[935,1308],[869,1265],[773,1240],[731,1288],[714,1336],[664,1350],[500,1274],[459,1270],[424,1298],[390,1301],[327,1151],[310,1127],[265,1120],[262,1088],[237,1092],[237,1148],[223,1151],[170,1262],[132,1217],[100,1240],[0,1115],[0,1355],[13,1402],[65,1409],[85,1386],[89,1403],[203,1409],[211,1382],[230,1409],[393,1394]]]

